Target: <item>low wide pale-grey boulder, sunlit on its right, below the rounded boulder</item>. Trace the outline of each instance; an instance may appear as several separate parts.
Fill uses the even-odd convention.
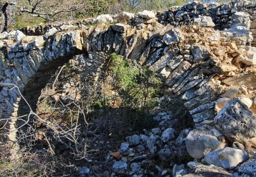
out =
[[[235,168],[247,159],[248,154],[246,151],[229,147],[221,150],[214,150],[205,155],[205,161],[207,161],[207,163],[228,170]]]

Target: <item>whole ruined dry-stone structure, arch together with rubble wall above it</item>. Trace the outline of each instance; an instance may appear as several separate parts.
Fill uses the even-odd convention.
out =
[[[184,100],[195,127],[215,123],[228,139],[244,144],[244,140],[256,136],[253,12],[253,5],[238,8],[235,3],[221,6],[192,3],[157,15],[148,11],[136,16],[123,12],[114,18],[102,15],[82,22],[27,27],[21,30],[26,35],[21,31],[1,34],[5,40],[1,42],[0,117],[7,120],[1,125],[7,123],[9,140],[15,142],[17,118],[29,114],[30,109],[35,110],[40,91],[51,77],[49,71],[77,55],[93,60],[99,52],[106,55],[116,52],[157,72],[169,86],[168,96]],[[109,22],[116,24],[107,25]],[[177,28],[191,23],[192,26]],[[24,103],[18,89],[31,108]],[[240,97],[239,101],[233,100],[236,97]],[[236,107],[238,115],[233,112],[228,115],[229,106]],[[244,116],[240,116],[239,106]],[[233,116],[238,122],[246,117],[251,125],[230,135],[237,127],[230,123],[227,129],[229,125],[225,127],[223,114],[228,118]],[[241,138],[244,131],[248,135]],[[194,135],[190,136],[192,140]],[[244,146],[250,148],[252,144],[255,146],[255,142]],[[205,152],[195,158],[203,157]]]

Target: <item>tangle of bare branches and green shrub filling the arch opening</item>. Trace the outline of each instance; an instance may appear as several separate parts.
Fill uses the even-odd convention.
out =
[[[83,95],[83,86],[79,87],[86,83],[81,82],[72,61],[63,67],[55,88],[52,81],[43,89],[33,126],[19,132],[20,154],[24,157],[16,163],[1,161],[1,175],[74,175],[89,161],[98,161],[96,165],[102,169],[96,174],[102,174],[108,171],[104,157],[109,150],[119,148],[131,132],[156,126],[150,112],[158,106],[160,78],[115,53],[106,63],[98,80],[102,84],[89,88],[89,99]],[[76,83],[82,90],[66,93],[62,83]],[[63,93],[77,97],[64,101],[58,96]]]

